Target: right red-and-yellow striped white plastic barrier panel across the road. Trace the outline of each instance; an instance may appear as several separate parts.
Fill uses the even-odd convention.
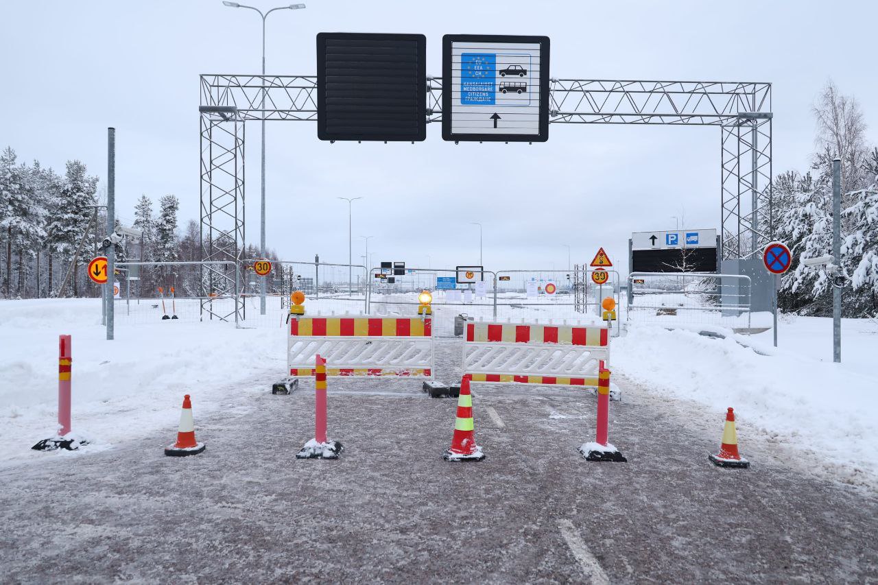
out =
[[[464,376],[473,382],[598,387],[609,361],[606,327],[471,322]]]

